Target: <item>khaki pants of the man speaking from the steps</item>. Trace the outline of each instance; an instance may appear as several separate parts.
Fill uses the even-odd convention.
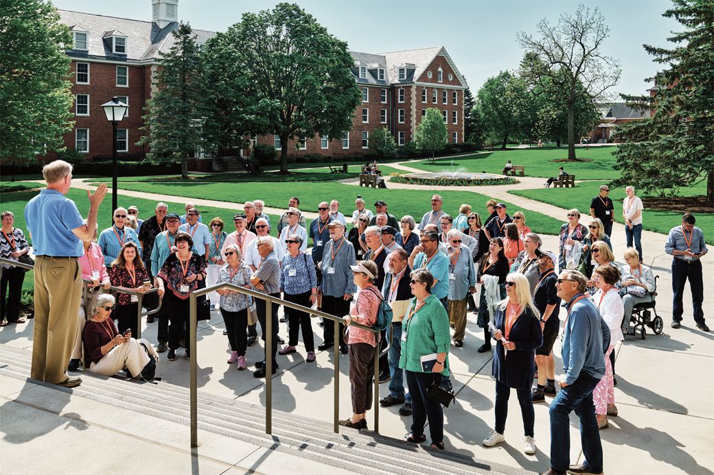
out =
[[[30,377],[51,383],[68,378],[82,294],[81,268],[76,258],[37,256],[35,261],[35,322]]]

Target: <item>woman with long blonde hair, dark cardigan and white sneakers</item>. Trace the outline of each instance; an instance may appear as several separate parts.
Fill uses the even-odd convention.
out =
[[[531,298],[531,285],[523,274],[514,272],[506,277],[506,299],[496,310],[491,335],[496,339],[491,374],[496,378],[496,427],[483,445],[492,447],[506,438],[506,415],[511,388],[516,389],[523,416],[523,451],[535,454],[533,425],[535,412],[531,401],[531,384],[535,374],[535,349],[543,344],[540,312]],[[506,355],[508,354],[508,357]]]

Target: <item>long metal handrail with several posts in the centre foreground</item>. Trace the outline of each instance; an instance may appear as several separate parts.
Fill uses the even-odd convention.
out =
[[[201,297],[201,295],[206,295],[208,292],[213,292],[218,289],[229,289],[234,290],[238,293],[244,295],[250,295],[253,298],[258,298],[266,301],[266,359],[265,359],[265,372],[266,372],[266,434],[272,434],[273,432],[273,318],[268,317],[273,315],[273,304],[283,305],[284,307],[290,307],[295,310],[300,310],[301,312],[306,312],[308,314],[317,315],[323,319],[332,320],[336,323],[343,322],[341,317],[336,317],[335,315],[330,315],[328,313],[322,312],[321,310],[313,310],[309,307],[304,307],[303,305],[298,305],[293,302],[288,302],[278,297],[273,297],[269,294],[263,294],[261,292],[256,292],[256,290],[247,289],[246,287],[239,287],[238,285],[229,284],[227,282],[221,282],[216,285],[211,285],[210,287],[204,287],[203,289],[194,290],[189,295],[189,322],[188,327],[190,328],[190,343],[192,358],[189,364],[191,368],[190,384],[191,387],[191,446],[198,446],[198,349],[196,348],[196,298]],[[391,339],[394,334],[394,329],[390,323],[389,325],[389,339],[388,344],[382,352],[379,351],[380,342],[380,332],[372,327],[367,327],[366,325],[361,325],[356,322],[350,324],[351,327],[361,328],[367,330],[368,332],[373,332],[375,334],[375,347],[374,347],[374,431],[379,432],[379,358],[386,354],[391,347]],[[338,434],[340,431],[339,426],[339,394],[340,394],[340,352],[339,344],[340,341],[339,332],[340,325],[333,325],[334,336],[333,342],[334,352],[335,352],[335,389],[334,389],[334,410],[333,410],[333,431]]]

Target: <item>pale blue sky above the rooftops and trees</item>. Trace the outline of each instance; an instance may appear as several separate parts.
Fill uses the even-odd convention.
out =
[[[54,0],[57,8],[151,21],[151,0]],[[245,11],[259,11],[276,1],[179,0],[178,16],[194,28],[224,31],[240,21]],[[445,46],[471,91],[499,71],[518,68],[523,50],[518,31],[535,33],[542,18],[551,23],[577,1],[537,0],[300,0],[331,34],[348,42],[354,51],[383,53],[403,49]],[[649,87],[644,79],[658,65],[642,44],[668,46],[670,31],[680,25],[661,14],[668,0],[581,1],[597,6],[610,26],[603,53],[622,62],[623,74],[615,93],[640,94]]]

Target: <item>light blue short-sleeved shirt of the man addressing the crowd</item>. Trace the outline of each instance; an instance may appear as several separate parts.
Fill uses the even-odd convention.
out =
[[[41,190],[25,206],[25,222],[36,255],[79,257],[82,242],[72,230],[84,225],[74,201],[57,190]]]

